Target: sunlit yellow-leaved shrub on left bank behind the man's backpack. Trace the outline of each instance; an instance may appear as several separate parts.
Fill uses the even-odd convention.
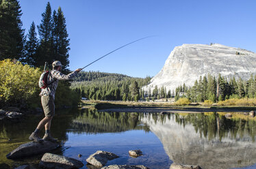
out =
[[[0,102],[25,104],[39,94],[38,68],[23,65],[19,61],[0,61]]]

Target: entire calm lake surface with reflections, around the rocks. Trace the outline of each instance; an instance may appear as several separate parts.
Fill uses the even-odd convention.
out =
[[[81,160],[97,150],[120,156],[110,164],[170,168],[172,162],[198,164],[205,168],[256,168],[256,117],[235,112],[226,119],[223,112],[157,114],[137,112],[58,111],[52,135],[62,147],[52,153]],[[42,116],[0,122],[0,168],[29,164],[37,168],[42,155],[10,160],[5,155],[27,139]],[[43,135],[43,132],[41,133]],[[10,139],[10,140],[9,140]],[[131,149],[142,156],[129,157]],[[82,157],[79,158],[78,154]]]

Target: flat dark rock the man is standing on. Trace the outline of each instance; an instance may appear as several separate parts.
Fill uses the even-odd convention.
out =
[[[55,142],[27,142],[25,144],[21,144],[20,147],[6,155],[8,159],[16,159],[21,158],[29,155],[35,155],[40,153],[46,153],[48,151],[51,151],[53,149],[57,149],[57,147],[60,147],[59,144]]]

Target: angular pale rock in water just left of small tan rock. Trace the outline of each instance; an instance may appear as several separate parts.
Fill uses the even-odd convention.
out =
[[[96,153],[90,155],[90,157],[86,159],[86,162],[92,164],[93,166],[104,166],[107,164],[108,160],[115,158],[118,158],[118,155],[115,155],[114,153],[107,151],[97,151]]]

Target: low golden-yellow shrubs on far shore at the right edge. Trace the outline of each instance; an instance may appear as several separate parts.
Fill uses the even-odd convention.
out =
[[[226,99],[218,102],[219,106],[256,106],[255,98],[242,98],[242,99]]]

